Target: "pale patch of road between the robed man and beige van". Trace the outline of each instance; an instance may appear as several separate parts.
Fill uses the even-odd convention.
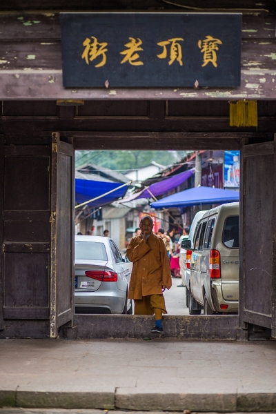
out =
[[[164,292],[168,315],[189,315],[186,307],[186,288],[178,288],[179,284],[181,279],[172,277],[172,287]]]

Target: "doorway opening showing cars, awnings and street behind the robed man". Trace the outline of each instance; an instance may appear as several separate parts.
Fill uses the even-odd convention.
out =
[[[163,237],[165,243],[168,240],[172,276],[172,288],[164,292],[168,315],[237,315],[237,206],[230,216],[232,221],[224,217],[224,251],[219,262],[222,278],[210,278],[209,269],[198,272],[196,257],[201,255],[199,270],[204,270],[206,261],[209,267],[212,232],[219,210],[214,210],[212,217],[208,217],[207,211],[239,200],[239,157],[239,150],[77,150],[75,313],[134,313],[132,301],[127,299],[132,263],[126,248],[139,233],[141,218],[150,215],[152,231]],[[164,201],[166,207],[158,206]],[[190,230],[193,234],[189,236]],[[182,240],[189,237],[193,244],[201,237],[201,248],[181,248]],[[88,243],[95,255],[88,252]],[[116,273],[118,280],[125,279],[121,289],[117,289],[118,281],[108,283],[111,278],[99,275],[106,268]],[[222,280],[224,283],[214,290],[213,282],[217,286]]]

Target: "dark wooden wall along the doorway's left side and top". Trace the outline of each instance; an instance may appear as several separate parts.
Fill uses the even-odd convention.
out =
[[[3,101],[0,336],[46,337],[50,332],[52,130],[63,139],[73,136],[79,149],[239,149],[246,141],[273,140],[275,101],[260,102],[259,115],[266,132],[231,130],[226,101],[86,101],[79,108],[57,107],[55,101]]]

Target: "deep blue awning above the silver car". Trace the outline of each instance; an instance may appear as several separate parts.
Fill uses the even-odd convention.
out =
[[[89,199],[99,197],[99,195],[103,195],[108,193],[110,190],[114,190],[117,187],[120,187],[120,183],[110,183],[105,181],[92,181],[91,179],[75,179],[75,199],[77,204],[84,203]],[[111,194],[104,195],[100,199],[92,201],[88,203],[90,207],[99,207],[105,206],[106,204],[110,204],[113,201],[119,199],[120,197],[124,197],[126,194],[126,190],[128,190],[128,186],[123,188],[119,188],[119,190],[114,191]]]

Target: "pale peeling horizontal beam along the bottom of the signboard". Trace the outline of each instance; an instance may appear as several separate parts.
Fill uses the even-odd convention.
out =
[[[239,88],[63,88],[61,70],[0,70],[0,99],[275,100],[276,70],[242,70]]]

